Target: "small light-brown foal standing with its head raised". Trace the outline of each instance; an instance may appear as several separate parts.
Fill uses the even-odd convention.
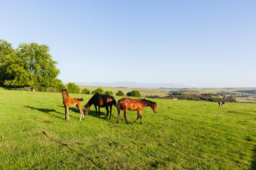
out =
[[[63,94],[63,105],[65,106],[65,120],[67,117],[69,120],[68,110],[69,110],[70,106],[77,106],[79,108],[79,110],[80,110],[80,120],[79,121],[81,121],[82,117],[85,120],[85,115],[83,114],[82,108],[81,108],[83,99],[82,98],[70,98],[68,96],[67,89],[62,89],[62,94]]]

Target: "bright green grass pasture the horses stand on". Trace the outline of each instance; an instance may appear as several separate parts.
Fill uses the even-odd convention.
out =
[[[152,101],[144,125],[94,107],[81,122],[70,108],[68,122],[61,94],[0,89],[0,169],[256,169],[256,104]]]

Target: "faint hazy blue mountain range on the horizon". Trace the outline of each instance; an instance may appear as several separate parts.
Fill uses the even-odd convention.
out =
[[[144,89],[173,89],[173,88],[188,88],[190,86],[185,86],[183,84],[141,84],[134,82],[114,82],[114,83],[85,83],[85,82],[75,82],[75,84],[83,86],[110,86],[110,87],[127,87],[127,88],[144,88]]]

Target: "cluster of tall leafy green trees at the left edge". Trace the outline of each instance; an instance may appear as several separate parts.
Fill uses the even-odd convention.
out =
[[[0,86],[31,86],[33,90],[53,87],[60,91],[64,86],[57,79],[60,70],[49,51],[47,45],[35,42],[20,44],[14,50],[11,43],[0,40]]]

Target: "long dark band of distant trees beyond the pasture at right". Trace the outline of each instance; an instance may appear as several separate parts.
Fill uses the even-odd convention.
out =
[[[177,98],[179,100],[187,100],[187,101],[212,101],[212,102],[218,102],[218,101],[227,101],[227,102],[237,102],[235,98],[232,96],[223,96],[223,98],[220,98],[218,94],[184,94],[184,93],[171,93],[169,96],[166,97],[159,97],[159,96],[146,96],[147,98],[169,98],[174,99]]]

